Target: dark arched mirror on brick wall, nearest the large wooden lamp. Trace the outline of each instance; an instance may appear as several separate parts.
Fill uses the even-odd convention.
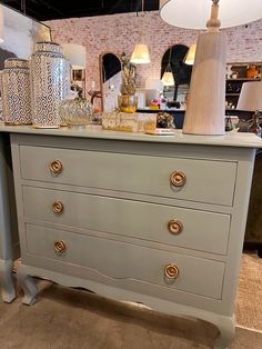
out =
[[[184,63],[189,48],[184,44],[174,44],[163,54],[161,62],[161,79],[167,70],[171,70],[174,84],[163,87],[163,97],[169,104],[179,106],[184,103],[189,91],[192,66]]]

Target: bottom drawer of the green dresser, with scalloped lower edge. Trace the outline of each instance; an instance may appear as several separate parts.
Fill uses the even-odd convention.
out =
[[[85,267],[110,279],[132,280],[138,287],[141,282],[149,288],[158,285],[221,299],[223,262],[34,225],[27,225],[26,240],[27,253],[36,260]],[[56,262],[53,267],[56,270]]]

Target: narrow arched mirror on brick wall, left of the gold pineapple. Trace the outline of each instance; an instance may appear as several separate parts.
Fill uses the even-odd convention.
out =
[[[118,106],[121,86],[121,61],[112,52],[100,56],[100,84],[102,110],[112,111]]]

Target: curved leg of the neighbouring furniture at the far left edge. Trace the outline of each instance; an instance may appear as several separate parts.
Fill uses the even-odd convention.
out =
[[[11,260],[0,260],[0,280],[2,299],[10,303],[16,298]]]

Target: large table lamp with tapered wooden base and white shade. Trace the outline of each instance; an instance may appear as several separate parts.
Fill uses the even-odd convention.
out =
[[[226,56],[225,37],[219,29],[258,20],[262,13],[261,0],[160,0],[160,17],[172,26],[203,29],[211,3],[208,30],[196,42],[184,133],[224,134]]]

